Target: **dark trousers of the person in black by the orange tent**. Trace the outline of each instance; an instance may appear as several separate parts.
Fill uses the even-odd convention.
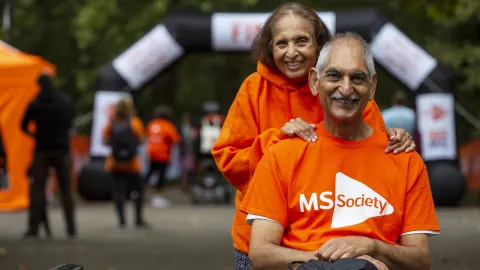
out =
[[[35,153],[35,158],[30,168],[32,181],[30,187],[28,232],[38,233],[38,227],[42,222],[48,226],[45,187],[50,168],[53,168],[57,175],[67,233],[74,235],[76,234],[76,227],[70,182],[70,157],[68,152],[65,151]]]

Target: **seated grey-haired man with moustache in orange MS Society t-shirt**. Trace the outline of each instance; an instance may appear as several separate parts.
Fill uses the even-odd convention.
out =
[[[337,34],[309,74],[324,121],[318,142],[283,140],[261,159],[241,210],[254,269],[368,256],[380,269],[430,269],[439,225],[416,152],[385,155],[387,134],[362,119],[376,73],[368,44]]]

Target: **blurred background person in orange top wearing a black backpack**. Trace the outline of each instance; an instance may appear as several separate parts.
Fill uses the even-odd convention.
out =
[[[112,153],[105,160],[105,170],[112,174],[112,194],[118,214],[119,226],[123,228],[126,225],[124,203],[127,191],[135,190],[138,192],[138,196],[135,198],[136,226],[138,228],[146,228],[148,224],[143,219],[144,188],[143,179],[140,177],[141,162],[140,157],[136,153],[136,147],[143,140],[144,126],[140,118],[135,115],[130,102],[131,100],[129,99],[122,99],[116,104],[114,117],[103,130],[103,139],[106,144],[111,145],[113,148],[114,142],[118,140],[118,138],[114,138],[114,130],[119,130],[123,124],[128,123],[130,125],[129,130],[131,130],[129,134],[133,133],[133,139],[135,140],[132,143],[135,148],[133,150],[134,155],[126,161],[119,161],[114,158],[112,150]],[[116,125],[116,129],[112,125]],[[125,137],[125,134],[121,136]]]

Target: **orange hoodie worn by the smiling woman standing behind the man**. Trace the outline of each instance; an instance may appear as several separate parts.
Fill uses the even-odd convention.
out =
[[[308,82],[295,86],[283,74],[259,62],[257,72],[240,87],[212,148],[219,170],[237,188],[232,238],[234,247],[244,253],[248,253],[251,227],[238,208],[263,153],[285,138],[280,129],[297,117],[312,124],[323,120],[323,109]],[[363,117],[374,129],[386,130],[375,101],[369,102]]]

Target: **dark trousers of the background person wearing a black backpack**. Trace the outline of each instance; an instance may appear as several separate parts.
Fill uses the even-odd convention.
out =
[[[112,172],[113,192],[112,197],[117,210],[120,225],[125,225],[125,200],[130,191],[136,191],[135,219],[136,223],[143,223],[143,179],[138,173]]]

